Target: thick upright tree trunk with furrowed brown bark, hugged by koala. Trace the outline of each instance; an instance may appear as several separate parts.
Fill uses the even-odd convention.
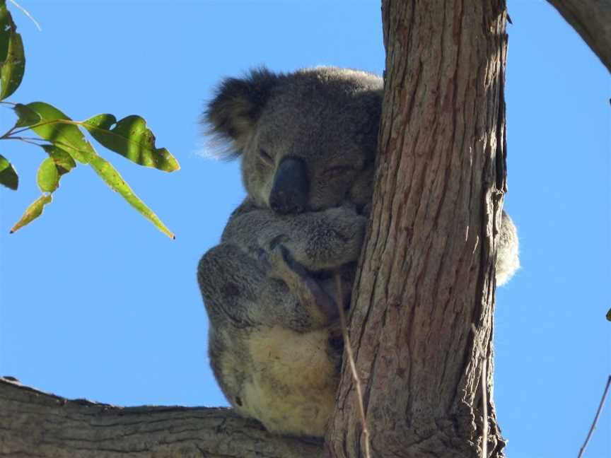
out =
[[[371,454],[476,457],[505,190],[504,0],[383,0],[378,172],[350,326]],[[471,331],[477,327],[477,335]],[[492,392],[492,371],[487,377]],[[325,447],[360,457],[344,365]],[[489,401],[489,457],[504,440]]]

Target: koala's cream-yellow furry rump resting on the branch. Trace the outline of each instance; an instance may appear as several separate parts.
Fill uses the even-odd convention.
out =
[[[259,419],[272,433],[322,437],[339,377],[329,339],[326,328],[251,330],[245,340],[250,377],[242,385],[242,406],[235,409]]]

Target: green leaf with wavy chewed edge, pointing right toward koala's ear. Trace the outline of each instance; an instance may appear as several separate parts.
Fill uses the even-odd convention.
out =
[[[112,125],[115,124],[115,127]],[[155,136],[144,118],[132,114],[117,122],[112,114],[98,114],[81,122],[103,146],[136,164],[164,172],[180,169],[178,160],[165,148],[156,148]]]

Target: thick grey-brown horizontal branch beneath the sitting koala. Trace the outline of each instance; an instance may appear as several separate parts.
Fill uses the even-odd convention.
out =
[[[303,458],[322,446],[282,438],[231,409],[115,407],[0,377],[0,457]]]

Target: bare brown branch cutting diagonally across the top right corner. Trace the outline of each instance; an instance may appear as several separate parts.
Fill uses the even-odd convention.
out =
[[[547,0],[611,71],[611,0]]]

